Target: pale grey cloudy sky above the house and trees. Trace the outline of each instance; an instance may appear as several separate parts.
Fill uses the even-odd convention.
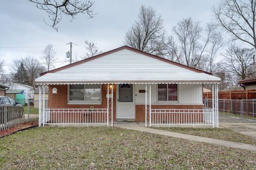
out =
[[[65,58],[70,41],[77,44],[73,50],[77,56],[84,54],[84,40],[90,40],[108,51],[123,45],[125,32],[137,19],[140,5],[153,6],[162,15],[167,33],[182,19],[191,17],[202,26],[212,20],[212,7],[220,0],[169,0],[169,1],[118,1],[95,0],[94,13],[89,19],[80,14],[73,22],[62,16],[59,31],[43,22],[47,14],[27,0],[2,1],[0,5],[0,58],[4,58],[6,72],[15,58],[34,56],[40,58],[47,44],[57,52],[56,66],[68,64]],[[74,55],[73,53],[73,55]],[[65,62],[66,61],[66,62]]]

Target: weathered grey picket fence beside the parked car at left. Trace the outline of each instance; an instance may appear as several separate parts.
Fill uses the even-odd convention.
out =
[[[0,106],[0,130],[25,122],[23,106]]]

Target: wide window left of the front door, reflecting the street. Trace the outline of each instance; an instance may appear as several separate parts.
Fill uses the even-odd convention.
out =
[[[69,103],[100,103],[100,84],[69,85]]]

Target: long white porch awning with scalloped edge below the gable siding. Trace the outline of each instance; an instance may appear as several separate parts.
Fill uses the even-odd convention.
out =
[[[36,84],[93,83],[220,83],[220,79],[205,73],[47,73]]]

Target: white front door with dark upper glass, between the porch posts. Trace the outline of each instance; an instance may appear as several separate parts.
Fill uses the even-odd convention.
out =
[[[135,118],[133,84],[118,84],[117,88],[117,118]]]

